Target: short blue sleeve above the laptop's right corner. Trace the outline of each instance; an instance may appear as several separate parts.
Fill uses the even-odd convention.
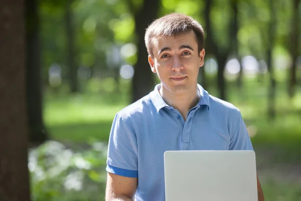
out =
[[[240,112],[237,128],[230,137],[229,150],[253,150],[250,136]]]

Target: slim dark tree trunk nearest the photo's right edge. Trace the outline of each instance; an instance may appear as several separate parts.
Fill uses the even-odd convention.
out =
[[[292,62],[289,71],[289,84],[288,84],[288,95],[289,97],[293,97],[295,94],[295,85],[296,85],[296,60],[298,56],[298,44],[299,44],[299,37],[298,33],[298,5],[300,0],[293,1],[293,12],[292,12],[292,20],[291,20],[291,46],[290,46],[290,53],[292,57]]]

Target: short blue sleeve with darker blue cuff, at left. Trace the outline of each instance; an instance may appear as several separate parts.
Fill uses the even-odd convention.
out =
[[[106,170],[126,177],[138,176],[137,139],[127,119],[117,113],[110,132]]]

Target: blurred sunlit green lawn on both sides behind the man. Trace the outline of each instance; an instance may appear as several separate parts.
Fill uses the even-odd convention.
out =
[[[276,96],[277,116],[269,121],[265,85],[247,82],[244,87],[248,90],[244,92],[248,92],[241,94],[229,85],[229,102],[241,110],[255,144],[291,146],[301,143],[301,93],[290,100],[283,86],[280,87]],[[52,138],[83,142],[90,137],[107,140],[115,114],[127,105],[129,97],[125,93],[94,93],[48,95],[45,99],[44,119]]]

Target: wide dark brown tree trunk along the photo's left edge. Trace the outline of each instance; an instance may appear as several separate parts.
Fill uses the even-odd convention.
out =
[[[0,7],[0,199],[29,201],[24,1]]]

